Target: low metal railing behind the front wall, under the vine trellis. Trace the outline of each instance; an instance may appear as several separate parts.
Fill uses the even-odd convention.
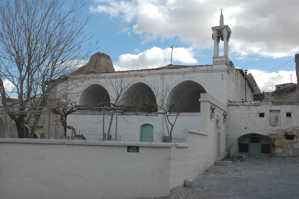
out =
[[[102,131],[98,130],[86,130],[86,129],[79,129],[76,130],[77,135],[83,135],[86,137],[87,140],[103,140],[103,133]],[[109,137],[107,138],[108,132],[104,133],[104,140],[116,140],[120,141],[121,140],[121,135],[117,135],[115,138],[115,135],[112,135],[113,132],[110,132]],[[42,133],[41,138],[42,139],[81,139],[79,137],[75,137],[74,133],[70,129],[66,129],[65,132],[63,133]]]

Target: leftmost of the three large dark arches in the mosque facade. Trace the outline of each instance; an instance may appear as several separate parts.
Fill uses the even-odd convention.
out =
[[[98,84],[93,84],[85,89],[80,97],[80,106],[97,107],[110,103],[107,90]]]

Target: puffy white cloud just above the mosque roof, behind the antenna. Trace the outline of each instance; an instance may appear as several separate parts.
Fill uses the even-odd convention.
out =
[[[138,49],[137,49],[138,50]],[[136,49],[135,49],[136,51]],[[138,50],[139,51],[139,50]],[[175,48],[172,60],[186,64],[198,63],[192,48]],[[170,64],[171,48],[152,47],[138,54],[122,54],[113,63],[115,70],[150,69]]]

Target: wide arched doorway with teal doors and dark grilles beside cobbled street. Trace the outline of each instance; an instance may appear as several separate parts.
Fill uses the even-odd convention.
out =
[[[256,133],[240,136],[238,154],[247,157],[271,157],[271,138]]]

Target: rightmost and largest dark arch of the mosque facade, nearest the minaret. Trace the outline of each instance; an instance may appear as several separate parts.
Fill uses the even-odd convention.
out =
[[[168,97],[169,112],[200,112],[201,93],[205,89],[195,81],[186,80],[176,85]]]

